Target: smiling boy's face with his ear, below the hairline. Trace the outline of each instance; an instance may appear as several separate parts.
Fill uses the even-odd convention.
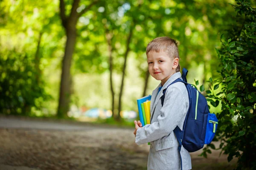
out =
[[[150,51],[147,55],[148,71],[152,77],[161,80],[162,85],[176,73],[178,59],[169,57],[166,52]]]

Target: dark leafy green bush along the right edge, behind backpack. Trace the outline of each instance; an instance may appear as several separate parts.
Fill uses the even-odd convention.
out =
[[[222,46],[216,51],[222,79],[209,80],[207,100],[214,107],[221,102],[214,140],[221,140],[219,148],[228,154],[228,161],[235,156],[237,169],[256,169],[256,9],[244,0],[237,0],[237,5],[232,6],[238,23],[221,35]],[[214,94],[219,87],[221,92]],[[203,156],[209,147],[204,148]]]

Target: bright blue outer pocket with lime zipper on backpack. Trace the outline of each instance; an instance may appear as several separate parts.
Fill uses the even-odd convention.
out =
[[[207,127],[205,133],[204,144],[209,144],[215,135],[218,126],[218,119],[214,113],[208,113]]]

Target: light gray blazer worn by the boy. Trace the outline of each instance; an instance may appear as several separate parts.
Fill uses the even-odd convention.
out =
[[[148,170],[180,170],[178,141],[173,132],[178,125],[183,129],[183,122],[189,108],[189,97],[186,86],[182,82],[171,85],[166,90],[162,107],[163,89],[175,79],[181,78],[180,72],[173,74],[158,93],[158,87],[151,96],[151,124],[137,130],[135,142],[143,144],[150,142],[148,154]],[[182,146],[180,150],[182,169],[192,169],[189,152]]]

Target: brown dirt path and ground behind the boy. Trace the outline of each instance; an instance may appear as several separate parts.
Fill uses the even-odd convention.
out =
[[[134,143],[133,130],[0,117],[0,170],[145,170],[149,147]],[[200,153],[191,154],[193,167],[227,161]]]

